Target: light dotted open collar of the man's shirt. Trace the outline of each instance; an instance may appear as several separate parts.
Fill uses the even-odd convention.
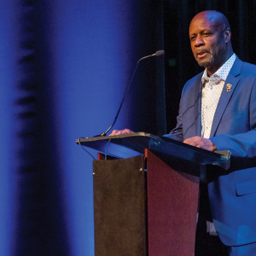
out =
[[[225,81],[235,61],[236,61],[236,54],[234,53],[228,61],[226,61],[221,67],[218,68],[218,70],[215,73],[212,74],[211,77],[219,77]],[[207,68],[206,68],[201,77],[201,82],[202,84],[204,84],[205,81],[208,81],[208,80],[209,80],[209,77],[207,75]]]

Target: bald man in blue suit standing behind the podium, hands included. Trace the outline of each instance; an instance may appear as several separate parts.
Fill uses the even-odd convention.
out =
[[[256,66],[234,54],[230,24],[221,13],[195,15],[189,38],[195,60],[206,69],[184,85],[177,126],[166,137],[210,151],[230,150],[230,169],[207,166],[201,183],[207,184],[226,255],[256,255]]]

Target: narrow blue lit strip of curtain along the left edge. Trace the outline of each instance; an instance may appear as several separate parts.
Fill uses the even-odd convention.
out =
[[[15,190],[14,88],[16,70],[15,13],[13,1],[0,4],[0,255],[9,255],[13,231]]]

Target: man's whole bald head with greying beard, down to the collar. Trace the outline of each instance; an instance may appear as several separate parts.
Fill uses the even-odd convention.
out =
[[[213,10],[203,11],[191,20],[189,38],[195,60],[207,67],[209,75],[215,73],[233,54],[230,23]]]

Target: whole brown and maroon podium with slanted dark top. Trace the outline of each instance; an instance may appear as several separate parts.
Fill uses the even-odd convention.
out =
[[[96,256],[194,254],[201,165],[226,169],[229,151],[144,132],[76,143],[101,153],[93,162]]]

